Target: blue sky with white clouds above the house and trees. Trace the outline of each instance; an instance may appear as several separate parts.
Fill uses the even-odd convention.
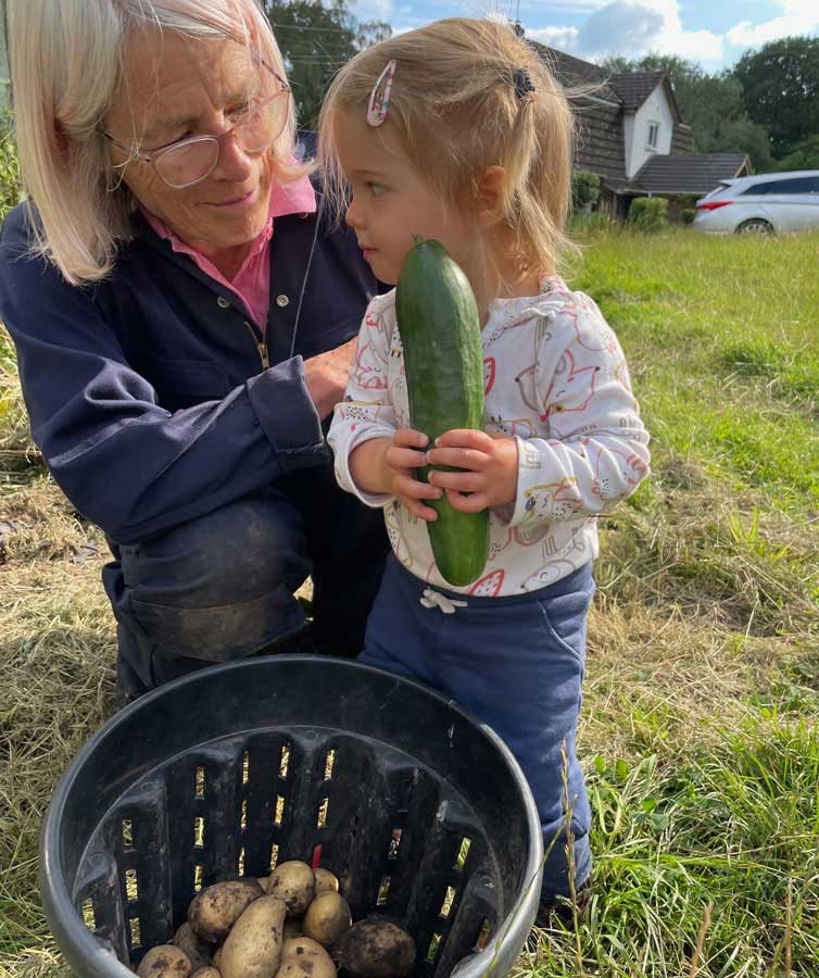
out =
[[[351,10],[361,21],[387,21],[393,32],[439,17],[502,14],[519,17],[528,37],[578,58],[659,51],[708,72],[778,37],[819,35],[819,0],[353,0]]]

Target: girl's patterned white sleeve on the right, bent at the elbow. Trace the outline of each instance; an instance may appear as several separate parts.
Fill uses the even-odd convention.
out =
[[[575,293],[556,312],[534,375],[549,438],[518,438],[512,526],[596,516],[648,474],[648,434],[620,344],[597,306]]]

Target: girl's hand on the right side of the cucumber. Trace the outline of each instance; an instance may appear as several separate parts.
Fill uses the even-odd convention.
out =
[[[444,489],[453,509],[462,513],[478,513],[515,502],[518,457],[514,438],[455,428],[436,439],[426,461],[428,465],[466,469],[436,469],[429,474],[429,481]]]

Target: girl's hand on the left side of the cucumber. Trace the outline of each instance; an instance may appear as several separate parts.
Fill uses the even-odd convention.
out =
[[[441,489],[420,482],[414,468],[426,464],[424,449],[429,439],[413,428],[401,428],[390,438],[374,438],[353,450],[350,455],[350,474],[353,481],[366,492],[386,492],[394,496],[411,513],[431,523],[438,513],[424,505],[425,499],[440,499]]]

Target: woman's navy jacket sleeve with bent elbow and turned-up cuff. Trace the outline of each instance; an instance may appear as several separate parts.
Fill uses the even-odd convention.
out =
[[[32,435],[72,503],[112,539],[136,542],[326,463],[301,358],[172,414],[128,366],[92,290],[21,256],[10,221],[20,226],[20,209],[0,241],[0,314]]]

